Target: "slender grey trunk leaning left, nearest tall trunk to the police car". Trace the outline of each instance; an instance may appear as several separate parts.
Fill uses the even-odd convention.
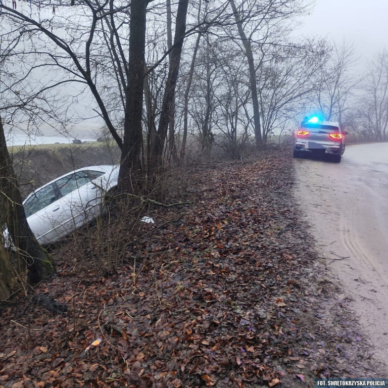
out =
[[[260,111],[259,111],[259,100],[257,94],[257,85],[256,85],[256,69],[255,69],[255,61],[252,53],[252,46],[250,40],[247,38],[247,35],[244,32],[243,23],[240,20],[240,17],[237,13],[236,6],[234,4],[234,0],[229,0],[230,6],[232,7],[234,19],[237,24],[238,34],[240,35],[241,41],[243,41],[245,56],[248,60],[249,67],[249,80],[251,84],[251,94],[252,94],[252,105],[253,105],[253,122],[255,126],[255,139],[256,146],[260,147],[263,144],[262,136],[261,136],[261,125],[260,125]]]

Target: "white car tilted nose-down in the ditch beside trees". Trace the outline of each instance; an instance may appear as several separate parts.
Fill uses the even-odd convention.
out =
[[[23,201],[27,222],[41,245],[54,243],[102,213],[117,187],[119,166],[91,166],[39,187]]]

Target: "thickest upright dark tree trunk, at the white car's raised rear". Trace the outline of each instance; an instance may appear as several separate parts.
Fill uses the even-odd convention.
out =
[[[143,182],[141,166],[141,116],[143,108],[144,46],[146,44],[147,0],[132,0],[129,23],[129,61],[124,141],[121,149],[119,191],[138,193]]]

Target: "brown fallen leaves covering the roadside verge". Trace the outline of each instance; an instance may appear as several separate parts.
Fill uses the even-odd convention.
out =
[[[3,305],[0,387],[293,388],[386,377],[313,250],[289,154],[192,171],[178,199],[194,204],[150,214],[178,221],[128,236],[137,243],[111,276],[93,263],[79,270],[79,252],[54,251],[58,274],[34,293],[68,312],[22,295]]]

